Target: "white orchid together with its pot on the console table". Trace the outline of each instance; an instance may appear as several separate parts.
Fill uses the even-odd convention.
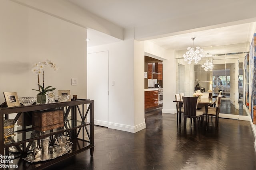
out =
[[[44,68],[45,66],[50,66],[51,68],[55,70],[58,70],[56,64],[52,63],[52,61],[50,60],[46,60],[44,62],[38,62],[36,63],[33,68],[32,68],[32,72],[37,74],[37,80],[38,80],[38,90],[36,89],[32,89],[32,90],[36,90],[39,93],[37,94],[37,103],[39,104],[45,104],[46,103],[46,92],[50,92],[55,90],[56,88],[51,88],[52,86],[47,86],[46,88],[44,88]],[[42,74],[42,86],[40,85],[40,77],[39,75]]]

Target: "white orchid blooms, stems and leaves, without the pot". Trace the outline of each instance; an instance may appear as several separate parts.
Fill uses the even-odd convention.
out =
[[[56,89],[56,88],[51,88],[52,86],[47,86],[46,88],[44,88],[44,68],[45,68],[45,66],[50,66],[51,68],[54,69],[54,71],[58,70],[58,67],[56,66],[56,64],[52,63],[52,61],[50,61],[50,60],[46,60],[41,63],[38,62],[33,66],[32,72],[37,74],[38,90],[36,90],[36,89],[32,89],[32,90],[38,91],[39,92],[38,95],[44,95],[44,94],[46,94],[46,92],[53,91]],[[39,78],[40,74],[42,74],[42,78],[43,78],[42,86],[40,85],[40,78]]]

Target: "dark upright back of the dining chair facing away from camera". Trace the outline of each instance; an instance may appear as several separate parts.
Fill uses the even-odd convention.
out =
[[[196,116],[197,99],[198,97],[182,97],[184,115]]]

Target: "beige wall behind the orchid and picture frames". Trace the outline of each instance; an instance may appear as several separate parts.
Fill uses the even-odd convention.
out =
[[[86,98],[85,28],[7,0],[1,1],[0,21],[0,92],[36,96],[31,68],[49,59],[59,70],[45,69],[45,85]],[[77,86],[71,86],[71,78],[78,79]]]

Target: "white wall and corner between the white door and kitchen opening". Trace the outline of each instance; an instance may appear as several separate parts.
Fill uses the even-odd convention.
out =
[[[129,35],[132,32],[127,30],[127,34],[127,37],[122,42],[89,47],[88,53],[109,52],[108,127],[134,133],[146,127],[144,120],[144,98],[137,96],[142,93],[144,96],[144,60],[143,63],[141,61],[141,58],[144,59],[144,53],[141,52],[143,51],[143,45],[140,42],[134,43],[133,38],[131,38],[133,36]],[[135,56],[139,58],[135,58]],[[141,67],[143,69],[138,67],[139,63],[142,63]],[[139,73],[135,75],[134,71],[137,70]],[[137,82],[140,77],[143,84]],[[112,86],[112,81],[115,82],[114,86]],[[140,85],[136,86],[136,84]],[[139,92],[139,94],[136,92]],[[135,101],[141,104],[143,109],[142,106],[137,104],[135,106]]]

